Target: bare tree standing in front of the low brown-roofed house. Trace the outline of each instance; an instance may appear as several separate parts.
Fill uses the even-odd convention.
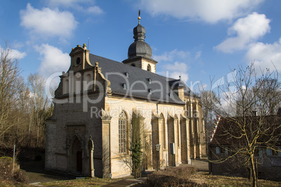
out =
[[[233,82],[219,86],[219,93],[222,93],[219,105],[222,107],[213,107],[222,118],[212,143],[227,150],[228,154],[211,161],[228,160],[245,165],[252,177],[252,186],[258,185],[254,153],[262,146],[275,151],[279,151],[276,147],[280,146],[280,117],[270,116],[281,99],[278,72],[266,70],[261,74],[258,76],[254,63],[233,71]]]

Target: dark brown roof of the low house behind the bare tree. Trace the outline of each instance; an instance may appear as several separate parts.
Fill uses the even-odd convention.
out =
[[[257,142],[263,144],[272,141],[276,145],[281,145],[281,117],[280,115],[272,115],[266,117],[233,117],[233,118],[220,118],[215,134],[210,144],[221,145],[245,145],[246,139],[243,134],[245,133],[240,126],[245,126],[247,137],[250,141],[257,136],[257,130],[260,130]],[[262,133],[262,134],[261,134]],[[235,137],[234,137],[235,136]],[[241,137],[241,138],[236,138]],[[269,141],[272,140],[272,141]]]

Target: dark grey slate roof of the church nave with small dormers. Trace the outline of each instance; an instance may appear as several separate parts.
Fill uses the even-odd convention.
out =
[[[185,93],[187,96],[195,96],[189,87],[180,80],[157,75],[156,73],[151,73],[147,70],[99,57],[94,54],[89,54],[89,61],[91,61],[92,64],[95,62],[99,63],[101,73],[110,81],[110,88],[113,94],[116,95],[143,98],[160,103],[184,105],[185,103],[180,100],[177,93],[173,91],[173,87],[176,87],[179,84],[178,82],[180,82],[180,85],[185,85]],[[129,75],[129,77],[127,77],[127,75]],[[124,84],[126,84],[127,89],[124,89]]]

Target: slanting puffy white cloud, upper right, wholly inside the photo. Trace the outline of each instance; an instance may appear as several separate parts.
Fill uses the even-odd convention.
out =
[[[271,30],[269,23],[271,20],[264,14],[252,13],[247,17],[238,19],[231,28],[229,35],[236,34],[236,37],[230,37],[214,47],[222,52],[233,52],[234,50],[244,50],[259,38]]]

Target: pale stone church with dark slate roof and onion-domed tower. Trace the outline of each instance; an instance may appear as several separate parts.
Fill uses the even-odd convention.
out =
[[[129,175],[124,158],[129,158],[134,111],[141,114],[145,169],[156,167],[155,144],[161,146],[161,167],[206,156],[200,98],[180,77],[156,74],[157,61],[140,20],[122,63],[90,54],[85,44],[72,49],[46,125],[46,170],[90,177]]]

